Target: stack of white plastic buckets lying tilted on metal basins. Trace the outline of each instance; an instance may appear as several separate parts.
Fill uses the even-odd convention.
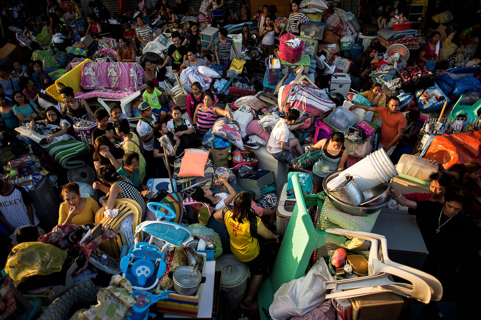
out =
[[[392,178],[398,176],[398,171],[392,165],[386,151],[379,149],[340,173],[340,175],[345,174],[354,177],[359,189],[366,191],[389,182]]]

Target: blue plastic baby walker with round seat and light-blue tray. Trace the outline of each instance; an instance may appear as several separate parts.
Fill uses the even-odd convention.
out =
[[[137,237],[139,232],[151,236],[148,243],[139,242]],[[166,244],[179,246],[190,238],[190,232],[177,223],[144,221],[136,227],[134,238],[134,244],[130,246],[128,254],[120,260],[122,277],[130,281],[132,289],[149,291],[156,288],[167,268],[164,259],[168,246],[165,245],[165,249],[161,250],[152,244],[152,240],[157,238]]]

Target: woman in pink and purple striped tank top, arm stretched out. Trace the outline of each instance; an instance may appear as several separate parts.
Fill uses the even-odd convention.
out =
[[[204,103],[200,103],[195,109],[194,125],[199,126],[199,133],[201,135],[206,134],[207,131],[212,128],[214,122],[221,116],[234,119],[230,111],[215,106],[218,101],[217,97],[215,97],[210,90],[207,90],[204,94]]]

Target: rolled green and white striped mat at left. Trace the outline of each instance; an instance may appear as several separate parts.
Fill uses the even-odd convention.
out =
[[[45,148],[45,151],[65,169],[83,167],[85,162],[76,158],[89,152],[86,144],[75,140],[54,143]]]

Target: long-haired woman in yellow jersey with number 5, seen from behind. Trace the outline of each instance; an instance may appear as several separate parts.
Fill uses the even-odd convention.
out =
[[[260,218],[252,211],[252,197],[242,191],[234,197],[234,205],[228,205],[223,210],[214,213],[217,221],[226,224],[230,236],[230,250],[232,254],[249,266],[252,274],[249,292],[241,307],[246,310],[257,310],[257,302],[253,302],[254,295],[259,288],[264,274],[263,255],[259,255],[260,246],[256,237],[251,235],[250,220],[255,219],[257,224],[257,236],[265,239],[276,239],[269,229],[261,223]]]

